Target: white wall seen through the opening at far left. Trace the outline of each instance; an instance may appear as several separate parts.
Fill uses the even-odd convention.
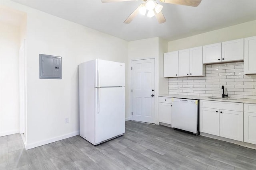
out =
[[[20,28],[0,22],[0,136],[19,132]]]

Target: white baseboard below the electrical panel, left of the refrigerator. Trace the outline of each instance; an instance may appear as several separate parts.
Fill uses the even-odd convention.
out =
[[[25,146],[25,148],[27,150],[27,149],[32,149],[32,148],[35,148],[35,147],[40,147],[42,145],[46,145],[46,144],[49,144],[49,143],[60,141],[62,139],[66,139],[66,138],[73,137],[73,136],[76,136],[76,135],[79,135],[79,131],[68,133],[68,134],[61,135],[61,136],[54,137],[54,138],[50,138],[50,139],[46,139],[44,141],[38,141],[38,142],[35,142],[35,143],[27,144]]]

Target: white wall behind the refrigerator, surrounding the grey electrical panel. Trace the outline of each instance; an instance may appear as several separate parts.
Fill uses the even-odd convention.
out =
[[[11,1],[2,3],[27,13],[26,148],[77,135],[78,64],[95,58],[125,63],[128,87],[128,42]],[[39,79],[39,54],[62,57],[62,80]],[[64,123],[65,117],[70,123]]]

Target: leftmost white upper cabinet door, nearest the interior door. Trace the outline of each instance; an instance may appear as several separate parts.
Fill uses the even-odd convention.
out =
[[[164,53],[164,77],[178,77],[178,51]]]

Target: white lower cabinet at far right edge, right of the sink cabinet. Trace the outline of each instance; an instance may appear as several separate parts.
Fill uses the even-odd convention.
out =
[[[244,104],[244,142],[256,145],[256,104]]]

